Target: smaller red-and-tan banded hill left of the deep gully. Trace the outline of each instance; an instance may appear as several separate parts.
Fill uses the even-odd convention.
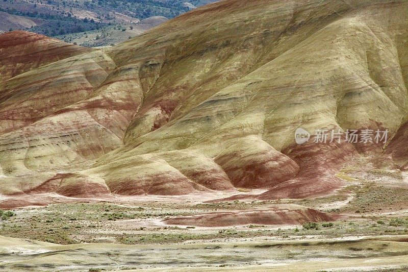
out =
[[[133,81],[130,73],[116,69],[106,53],[91,51],[1,83],[2,192],[59,188],[67,195],[98,195],[93,189],[97,184],[71,192],[65,185],[72,184],[73,174],[63,168],[82,169],[79,162],[93,160],[122,145],[126,126],[141,100],[133,92],[137,84],[129,83]],[[120,88],[115,87],[118,85]],[[49,185],[56,184],[61,176],[64,183]],[[75,178],[74,184],[81,180],[87,178]],[[47,186],[41,187],[43,183]],[[103,189],[109,192],[105,184]]]

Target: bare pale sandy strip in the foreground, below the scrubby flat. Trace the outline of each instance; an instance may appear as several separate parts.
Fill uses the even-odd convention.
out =
[[[382,236],[343,241],[315,238],[289,242],[258,239],[250,242],[140,246],[55,245],[33,241],[20,245],[16,239],[8,241],[0,237],[3,256],[0,265],[13,270],[42,268],[60,271],[97,269],[101,266],[112,271],[129,271],[132,267],[149,271],[367,271],[393,269],[407,263],[405,244],[398,239],[407,237]],[[7,244],[4,244],[5,240]],[[385,246],[387,252],[382,255],[387,256],[381,256],[378,250]],[[330,250],[327,251],[327,248]]]

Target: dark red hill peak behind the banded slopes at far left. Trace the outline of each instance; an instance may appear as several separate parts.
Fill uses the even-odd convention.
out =
[[[90,48],[25,31],[0,35],[0,82],[28,70],[91,52]]]

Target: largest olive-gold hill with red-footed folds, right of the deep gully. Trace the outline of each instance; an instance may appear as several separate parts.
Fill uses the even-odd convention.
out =
[[[321,195],[374,145],[297,146],[296,128],[394,134],[406,119],[407,2],[238,3],[188,13],[112,49],[120,63],[150,43],[165,53],[125,146],[87,174],[119,193],[185,193],[197,189],[190,181],[229,180],[272,188],[261,197]],[[207,23],[197,26],[200,16]],[[158,37],[169,27],[189,31]]]

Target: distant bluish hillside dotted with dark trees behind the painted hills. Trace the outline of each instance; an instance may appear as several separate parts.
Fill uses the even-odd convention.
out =
[[[214,1],[180,0],[3,0],[0,30],[29,30],[46,36],[129,26],[151,16],[173,18]]]

